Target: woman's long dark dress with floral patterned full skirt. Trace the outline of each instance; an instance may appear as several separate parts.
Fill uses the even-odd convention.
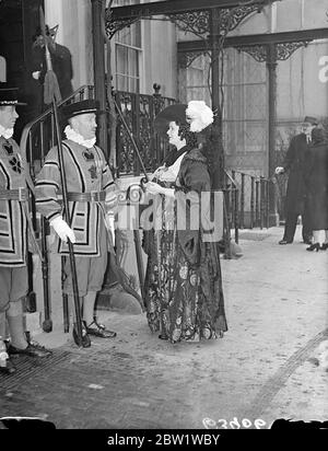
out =
[[[151,331],[172,343],[216,338],[227,331],[218,242],[204,242],[201,227],[177,228],[178,193],[200,194],[210,186],[207,161],[192,149],[180,165],[174,207],[161,195],[162,228],[153,231],[149,246],[147,316]]]

